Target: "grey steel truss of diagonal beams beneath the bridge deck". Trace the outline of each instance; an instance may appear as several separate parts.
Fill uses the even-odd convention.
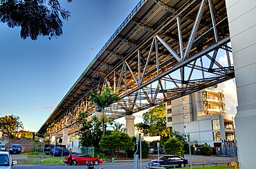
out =
[[[102,92],[109,87],[118,93],[121,100],[106,108],[109,117],[118,119],[234,78],[227,15],[217,13],[219,3],[223,2],[188,1],[179,9],[164,6],[162,10],[168,7],[172,14],[161,26],[148,26],[149,36],[125,56],[109,51],[119,61],[102,63],[111,70],[98,73],[98,79],[86,77],[91,89],[67,106],[55,132],[74,123],[78,112],[94,112],[91,90]],[[129,39],[123,41],[131,45]]]

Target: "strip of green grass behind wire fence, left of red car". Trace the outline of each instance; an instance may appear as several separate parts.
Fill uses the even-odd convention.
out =
[[[64,163],[65,157],[54,157],[45,155],[44,153],[23,152],[27,159],[15,159],[19,164],[33,164],[33,163]]]

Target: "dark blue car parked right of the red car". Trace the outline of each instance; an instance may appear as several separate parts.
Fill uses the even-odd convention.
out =
[[[178,165],[184,168],[188,164],[188,159],[180,157],[179,155],[164,155],[159,158],[159,166],[161,165]],[[152,160],[149,162],[149,166],[158,166],[158,160]]]

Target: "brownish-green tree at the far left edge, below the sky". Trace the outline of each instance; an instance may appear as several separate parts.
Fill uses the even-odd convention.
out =
[[[21,128],[23,128],[23,124],[19,121],[19,117],[15,115],[0,117],[0,129],[6,133],[9,140],[12,139],[12,135]]]

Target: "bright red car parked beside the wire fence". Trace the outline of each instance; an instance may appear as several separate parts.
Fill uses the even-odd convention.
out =
[[[64,163],[68,163],[69,156],[65,157]],[[75,155],[72,155],[72,159],[74,161],[74,165],[77,164],[85,164],[86,161],[91,161],[94,166],[98,166],[99,163],[102,163],[102,159],[91,157],[90,155],[84,154],[84,153],[77,153]]]

